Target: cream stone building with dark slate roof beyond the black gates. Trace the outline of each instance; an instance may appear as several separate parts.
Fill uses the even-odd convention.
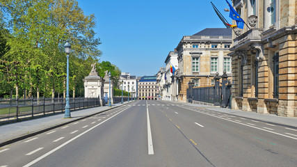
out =
[[[179,102],[186,102],[190,80],[195,86],[210,86],[216,73],[222,75],[224,70],[231,79],[231,57],[227,55],[231,45],[232,29],[204,29],[182,38],[176,48],[179,69],[172,77]]]

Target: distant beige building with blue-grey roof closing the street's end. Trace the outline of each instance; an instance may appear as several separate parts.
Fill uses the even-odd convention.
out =
[[[138,81],[138,100],[157,100],[156,76],[141,77]]]

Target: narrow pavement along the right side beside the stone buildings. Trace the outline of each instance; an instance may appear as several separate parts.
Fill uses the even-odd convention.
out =
[[[227,113],[227,114],[231,114],[234,116],[240,116],[243,118],[262,120],[264,122],[271,122],[274,124],[287,125],[290,127],[297,128],[297,117],[282,117],[282,116],[276,116],[274,114],[262,114],[262,113],[252,112],[252,111],[225,109],[225,108],[220,108],[219,106],[207,106],[207,105],[202,105],[202,104],[190,104],[190,103],[183,103],[183,104],[186,104],[188,106],[200,107],[200,108],[207,109],[210,111],[217,111],[220,113]]]

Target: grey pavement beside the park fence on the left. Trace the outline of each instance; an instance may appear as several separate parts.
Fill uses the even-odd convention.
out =
[[[46,116],[42,118],[36,118],[32,120],[24,120],[22,122],[14,122],[7,125],[0,126],[0,147],[13,143],[15,141],[40,134],[42,132],[49,131],[56,127],[61,127],[63,125],[69,124],[77,120],[87,118],[89,116],[95,115],[103,111],[108,111],[110,109],[115,109],[118,106],[127,104],[112,104],[109,106],[97,106],[90,109],[81,109],[78,111],[72,111],[71,117],[69,119],[64,118],[64,113],[56,114],[54,116]]]

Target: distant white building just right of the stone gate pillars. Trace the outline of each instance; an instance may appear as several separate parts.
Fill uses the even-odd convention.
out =
[[[136,97],[136,88],[137,88],[137,81],[136,76],[131,76],[129,72],[122,72],[120,74],[120,81],[122,81],[122,84],[120,84],[119,89],[129,91],[130,97]]]

